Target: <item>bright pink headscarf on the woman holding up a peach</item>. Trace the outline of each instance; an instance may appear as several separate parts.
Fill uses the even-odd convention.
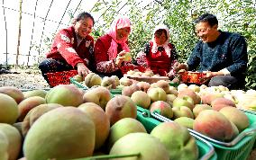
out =
[[[125,50],[127,52],[130,51],[128,45],[126,44],[128,37],[125,40],[116,40],[117,29],[122,29],[122,28],[126,28],[126,27],[129,27],[131,29],[131,22],[130,22],[129,18],[120,17],[120,18],[115,19],[114,22],[112,22],[111,28],[107,32],[107,34],[112,37],[111,45],[110,45],[110,48],[108,49],[108,54],[109,54],[110,60],[117,57],[118,44],[121,44],[123,50]]]

